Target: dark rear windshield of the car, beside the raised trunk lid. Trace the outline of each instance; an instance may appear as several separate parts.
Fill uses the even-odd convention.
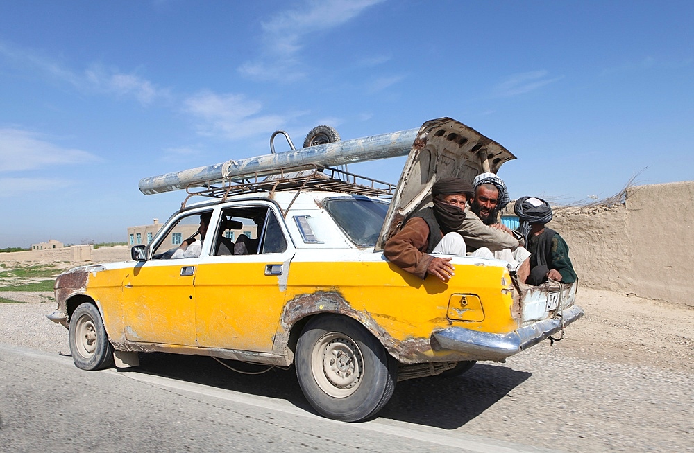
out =
[[[373,247],[388,211],[388,203],[365,197],[331,198],[325,210],[359,247]]]

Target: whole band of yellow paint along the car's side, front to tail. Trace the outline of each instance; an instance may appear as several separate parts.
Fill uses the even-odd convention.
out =
[[[266,258],[197,263],[194,276],[180,276],[185,264],[178,260],[101,271],[90,276],[87,294],[103,306],[110,335],[261,353],[273,350],[285,304],[315,292],[339,294],[395,341],[429,339],[433,330],[448,326],[495,333],[518,328],[511,292],[501,291],[502,278],[511,281],[502,267],[456,265],[455,276],[442,283],[432,276],[421,280],[384,260],[295,261],[282,283],[281,277],[265,275],[265,267],[287,263]],[[451,319],[453,294],[478,296],[483,317]]]

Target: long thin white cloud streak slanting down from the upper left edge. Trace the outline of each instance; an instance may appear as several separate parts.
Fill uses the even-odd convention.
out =
[[[42,71],[51,78],[72,85],[81,92],[133,96],[143,105],[150,104],[157,98],[169,96],[167,89],[159,88],[139,75],[121,73],[116,69],[105,69],[100,64],[91,64],[83,73],[80,73],[65,68],[49,57],[26,51],[6,42],[0,42],[0,55],[28,66],[30,69]]]

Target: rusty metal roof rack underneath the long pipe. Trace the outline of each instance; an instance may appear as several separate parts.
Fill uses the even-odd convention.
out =
[[[313,168],[309,170],[305,169],[306,166],[301,166],[301,169],[285,168],[269,176],[266,173],[260,175],[259,172],[255,172],[244,179],[226,179],[217,185],[191,184],[185,189],[188,196],[181,203],[181,209],[185,208],[191,197],[221,198],[222,201],[226,201],[231,195],[268,193],[268,197],[271,198],[276,192],[296,190],[296,199],[298,194],[305,190],[325,190],[391,199],[395,193],[395,184],[355,175],[338,168],[319,167],[314,164],[311,166]],[[294,199],[289,206],[294,203]]]

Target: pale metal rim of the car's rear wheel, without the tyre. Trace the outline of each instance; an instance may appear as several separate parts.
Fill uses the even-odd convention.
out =
[[[316,383],[334,398],[346,398],[359,388],[364,359],[357,344],[344,334],[328,332],[313,348],[311,369]]]

